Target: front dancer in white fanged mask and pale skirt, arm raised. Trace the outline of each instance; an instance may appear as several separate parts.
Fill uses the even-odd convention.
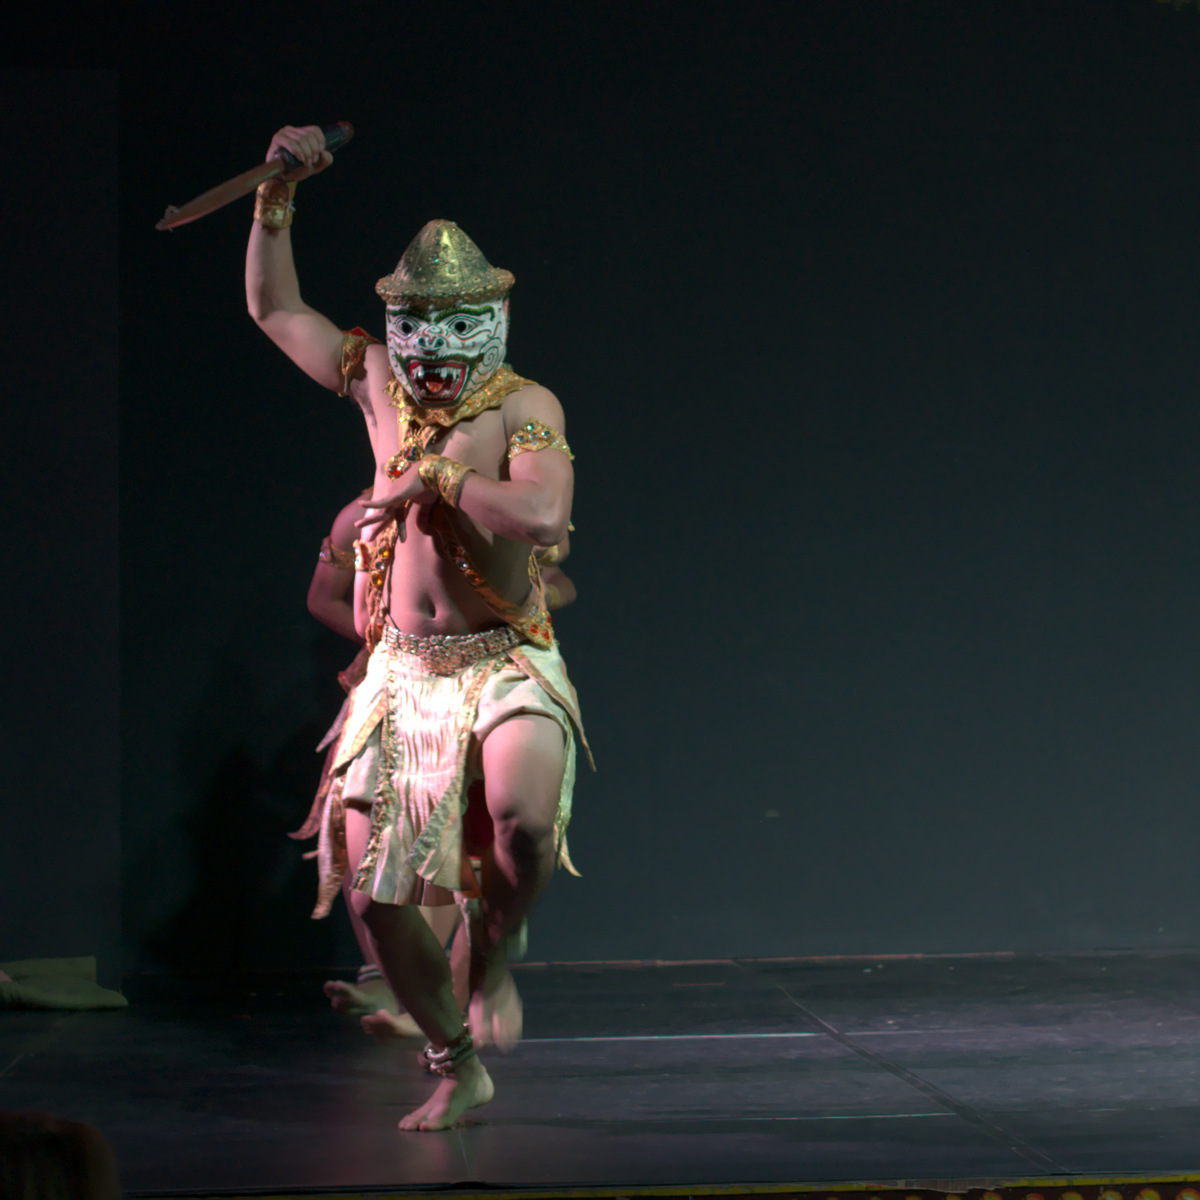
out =
[[[521,1001],[508,968],[556,866],[570,871],[576,748],[586,740],[535,551],[570,522],[563,409],[505,362],[512,276],[452,222],[432,221],[376,292],[386,342],[343,332],[301,299],[290,226],[298,182],[330,166],[316,126],[288,126],[301,163],[259,190],[246,295],[259,328],[362,410],[376,452],[355,588],[370,652],[338,734],[320,817],[316,914],[350,877],[384,978],[444,1076],[402,1129],[444,1129],[493,1094],[478,1044],[511,1048]],[[365,518],[366,520],[366,518]],[[467,792],[484,781],[493,836],[475,871]],[[469,1021],[419,906],[469,918]]]

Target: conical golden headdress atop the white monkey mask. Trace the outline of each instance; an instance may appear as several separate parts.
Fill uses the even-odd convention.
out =
[[[431,221],[376,292],[391,304],[432,307],[448,300],[496,300],[511,287],[512,274],[492,266],[452,221]]]

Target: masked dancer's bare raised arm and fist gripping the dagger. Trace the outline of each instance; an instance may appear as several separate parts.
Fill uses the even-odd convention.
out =
[[[258,328],[305,374],[324,388],[341,391],[342,332],[300,298],[300,281],[292,257],[292,229],[271,227],[283,224],[286,218],[278,214],[289,203],[294,185],[324,170],[334,156],[325,149],[325,137],[316,125],[284,126],[271,138],[268,161],[276,157],[281,148],[289,150],[302,166],[264,185],[274,188],[266,205],[272,211],[251,226],[246,248],[246,307]],[[290,188],[280,180],[288,181]]]

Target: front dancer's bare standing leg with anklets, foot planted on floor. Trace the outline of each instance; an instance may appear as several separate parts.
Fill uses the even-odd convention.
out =
[[[346,840],[350,862],[358,863],[371,828],[370,814],[346,811]],[[374,960],[391,990],[403,1002],[436,1050],[462,1033],[462,1016],[450,983],[445,949],[415,905],[378,904],[355,892],[352,902],[367,929]],[[474,1054],[463,1058],[455,1074],[438,1084],[433,1096],[400,1122],[401,1129],[449,1129],[468,1109],[486,1104],[492,1080]]]

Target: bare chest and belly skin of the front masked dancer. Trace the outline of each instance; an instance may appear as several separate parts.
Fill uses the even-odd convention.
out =
[[[384,386],[391,379],[388,354],[371,346],[366,360],[367,395],[371,402],[368,425],[376,455],[376,490],[382,493],[389,480],[383,467],[400,449],[396,409]],[[473,467],[487,479],[508,479],[508,438],[504,409],[520,392],[512,392],[500,408],[488,409],[439,433],[430,454],[445,455]],[[430,527],[432,496],[409,506],[403,540],[397,539],[388,596],[390,619],[406,634],[472,634],[503,624],[499,617],[462,578],[438,548]],[[529,592],[529,553],[526,542],[510,541],[491,533],[463,512],[452,514],[455,530],[475,566],[505,599],[520,602]]]

